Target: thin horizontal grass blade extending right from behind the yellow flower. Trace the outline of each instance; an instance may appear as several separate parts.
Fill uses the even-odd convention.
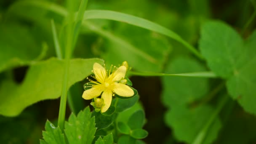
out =
[[[191,72],[191,73],[182,73],[182,74],[165,74],[157,72],[128,72],[128,75],[139,75],[139,76],[179,76],[179,77],[208,77],[215,78],[217,77],[213,72]]]

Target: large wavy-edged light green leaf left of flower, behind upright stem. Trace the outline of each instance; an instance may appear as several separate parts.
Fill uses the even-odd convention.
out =
[[[68,87],[90,75],[94,62],[103,63],[100,59],[71,60]],[[0,114],[16,116],[31,104],[58,98],[61,94],[63,65],[64,61],[58,59],[40,61],[32,64],[20,85],[11,80],[0,83]]]

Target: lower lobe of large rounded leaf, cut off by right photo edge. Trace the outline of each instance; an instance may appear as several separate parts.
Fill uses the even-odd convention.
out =
[[[227,89],[233,99],[245,111],[256,115],[256,31],[245,41],[243,53],[240,53],[242,67],[237,67],[234,75],[227,81]]]

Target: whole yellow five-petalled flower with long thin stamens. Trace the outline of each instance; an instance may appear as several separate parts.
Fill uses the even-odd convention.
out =
[[[133,96],[134,92],[128,85],[119,83],[120,80],[124,79],[126,70],[125,66],[120,66],[111,73],[111,69],[106,71],[100,64],[94,63],[93,73],[95,77],[93,78],[97,81],[90,80],[93,84],[88,87],[92,88],[83,92],[83,99],[93,99],[101,95],[101,99],[104,100],[101,112],[106,112],[110,107],[112,96],[115,96],[115,94],[123,97]]]

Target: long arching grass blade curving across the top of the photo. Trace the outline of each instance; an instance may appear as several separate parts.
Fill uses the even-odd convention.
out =
[[[17,4],[17,3],[16,3]],[[49,3],[46,1],[31,1],[31,0],[25,0],[22,2],[19,2],[19,5],[33,5],[40,8],[47,9],[49,11],[53,11],[55,13],[60,14],[61,16],[66,17],[67,11],[62,8],[59,5],[56,5],[54,3]],[[80,14],[77,15],[77,17],[81,16]],[[197,51],[196,48],[194,48],[192,45],[187,43],[185,40],[183,40],[179,35],[177,35],[175,32],[171,31],[170,29],[167,29],[159,24],[156,24],[152,21],[148,21],[146,19],[139,18],[137,16],[132,16],[125,13],[115,12],[115,11],[107,11],[107,10],[88,10],[84,13],[84,20],[86,19],[109,19],[114,21],[120,21],[125,22],[128,24],[135,25],[137,27],[142,27],[144,29],[149,29],[154,32],[158,32],[160,34],[166,35],[168,37],[173,38],[174,40],[177,40],[178,42],[182,43],[189,51],[195,54],[200,59],[203,59],[203,56]]]

